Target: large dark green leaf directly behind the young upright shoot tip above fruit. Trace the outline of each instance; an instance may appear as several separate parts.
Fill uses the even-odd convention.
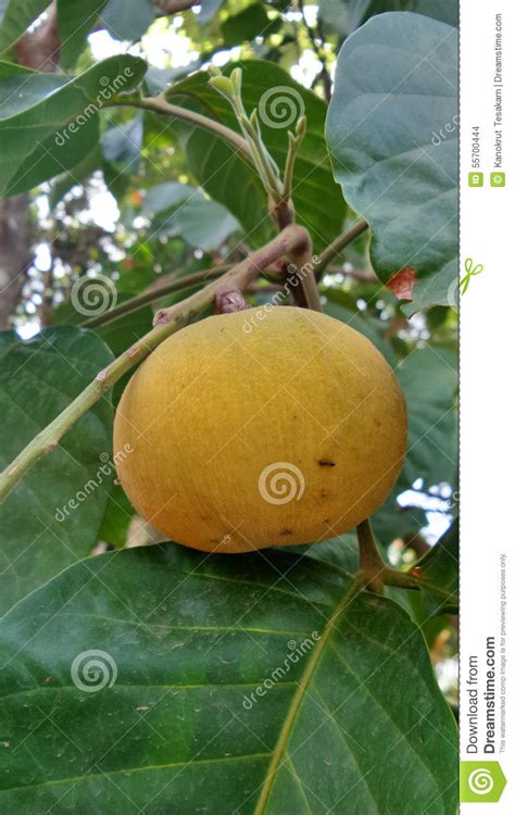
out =
[[[319,250],[340,233],[346,212],[324,140],[326,104],[278,65],[252,60],[241,66],[244,105],[249,113],[254,109],[260,111],[263,139],[280,168],[284,168],[288,148],[287,130],[294,128],[296,114],[305,110],[307,134],[296,163],[293,201],[299,223],[310,229],[315,250]],[[230,70],[233,67],[231,64]],[[174,86],[172,101],[194,108],[239,130],[228,103],[208,86],[208,78],[202,72],[178,83]],[[268,100],[264,96],[267,91],[271,91]],[[275,111],[274,104],[277,104]],[[288,121],[289,128],[284,126]],[[179,126],[188,163],[199,183],[239,220],[252,246],[262,244],[271,237],[272,224],[266,195],[254,172],[217,137],[174,123],[174,127]]]

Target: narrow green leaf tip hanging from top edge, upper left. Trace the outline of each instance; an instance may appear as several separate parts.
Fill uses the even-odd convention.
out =
[[[75,65],[87,36],[98,21],[108,0],[56,0],[58,27],[61,40],[60,61],[66,71]]]

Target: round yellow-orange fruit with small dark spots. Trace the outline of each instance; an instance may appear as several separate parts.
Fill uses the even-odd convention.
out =
[[[133,450],[117,469],[140,515],[208,552],[348,531],[384,503],[405,448],[404,399],[382,355],[293,306],[173,335],[130,379],[114,424],[115,452]],[[275,472],[289,480],[274,485]]]

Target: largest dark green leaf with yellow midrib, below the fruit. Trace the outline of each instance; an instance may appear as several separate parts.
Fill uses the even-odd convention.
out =
[[[67,569],[3,620],[2,813],[454,815],[422,635],[353,590],[311,557],[169,543]]]

